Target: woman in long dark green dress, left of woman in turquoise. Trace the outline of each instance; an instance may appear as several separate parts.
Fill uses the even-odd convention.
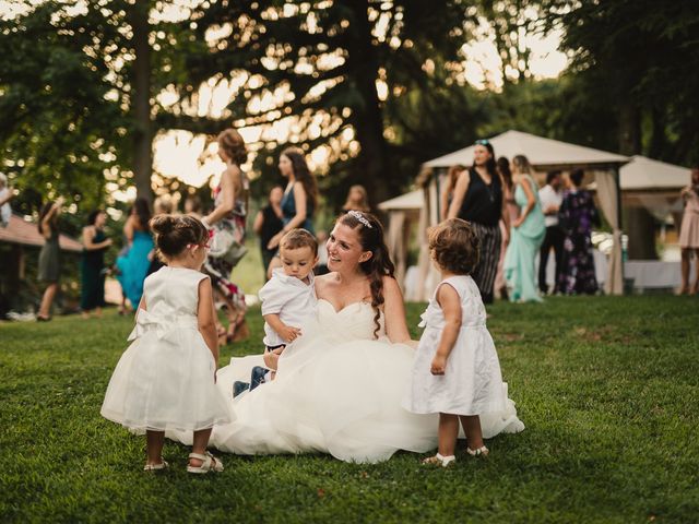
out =
[[[90,213],[87,225],[83,227],[83,257],[80,261],[81,296],[80,308],[83,318],[90,318],[94,309],[96,317],[102,317],[105,305],[105,261],[104,254],[111,239],[104,231],[107,215],[96,210]]]

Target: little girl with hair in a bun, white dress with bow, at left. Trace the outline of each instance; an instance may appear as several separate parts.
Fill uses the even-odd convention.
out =
[[[111,376],[102,415],[146,433],[145,471],[162,471],[166,430],[193,431],[189,473],[222,472],[206,452],[214,425],[230,421],[215,385],[218,342],[211,281],[200,273],[209,234],[190,216],[151,221],[168,265],[150,275],[125,352]],[[191,434],[191,433],[190,433]]]

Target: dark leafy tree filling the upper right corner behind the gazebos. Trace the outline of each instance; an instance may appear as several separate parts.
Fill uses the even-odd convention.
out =
[[[577,85],[614,115],[616,148],[626,155],[688,164],[699,162],[699,11],[678,0],[657,9],[651,0],[571,4],[545,0],[552,26],[561,25],[573,56]],[[645,122],[645,124],[644,124]],[[625,214],[629,257],[656,257],[653,217],[644,209]]]

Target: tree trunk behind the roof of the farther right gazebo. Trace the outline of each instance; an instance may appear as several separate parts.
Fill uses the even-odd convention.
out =
[[[641,153],[641,118],[631,100],[619,106],[619,152],[632,156]],[[655,251],[655,218],[644,207],[624,210],[624,229],[629,237],[631,260],[657,260]]]

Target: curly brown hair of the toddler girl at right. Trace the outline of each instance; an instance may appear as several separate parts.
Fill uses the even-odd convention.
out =
[[[427,231],[429,250],[440,267],[457,275],[470,275],[478,265],[481,242],[466,221],[450,218]]]

